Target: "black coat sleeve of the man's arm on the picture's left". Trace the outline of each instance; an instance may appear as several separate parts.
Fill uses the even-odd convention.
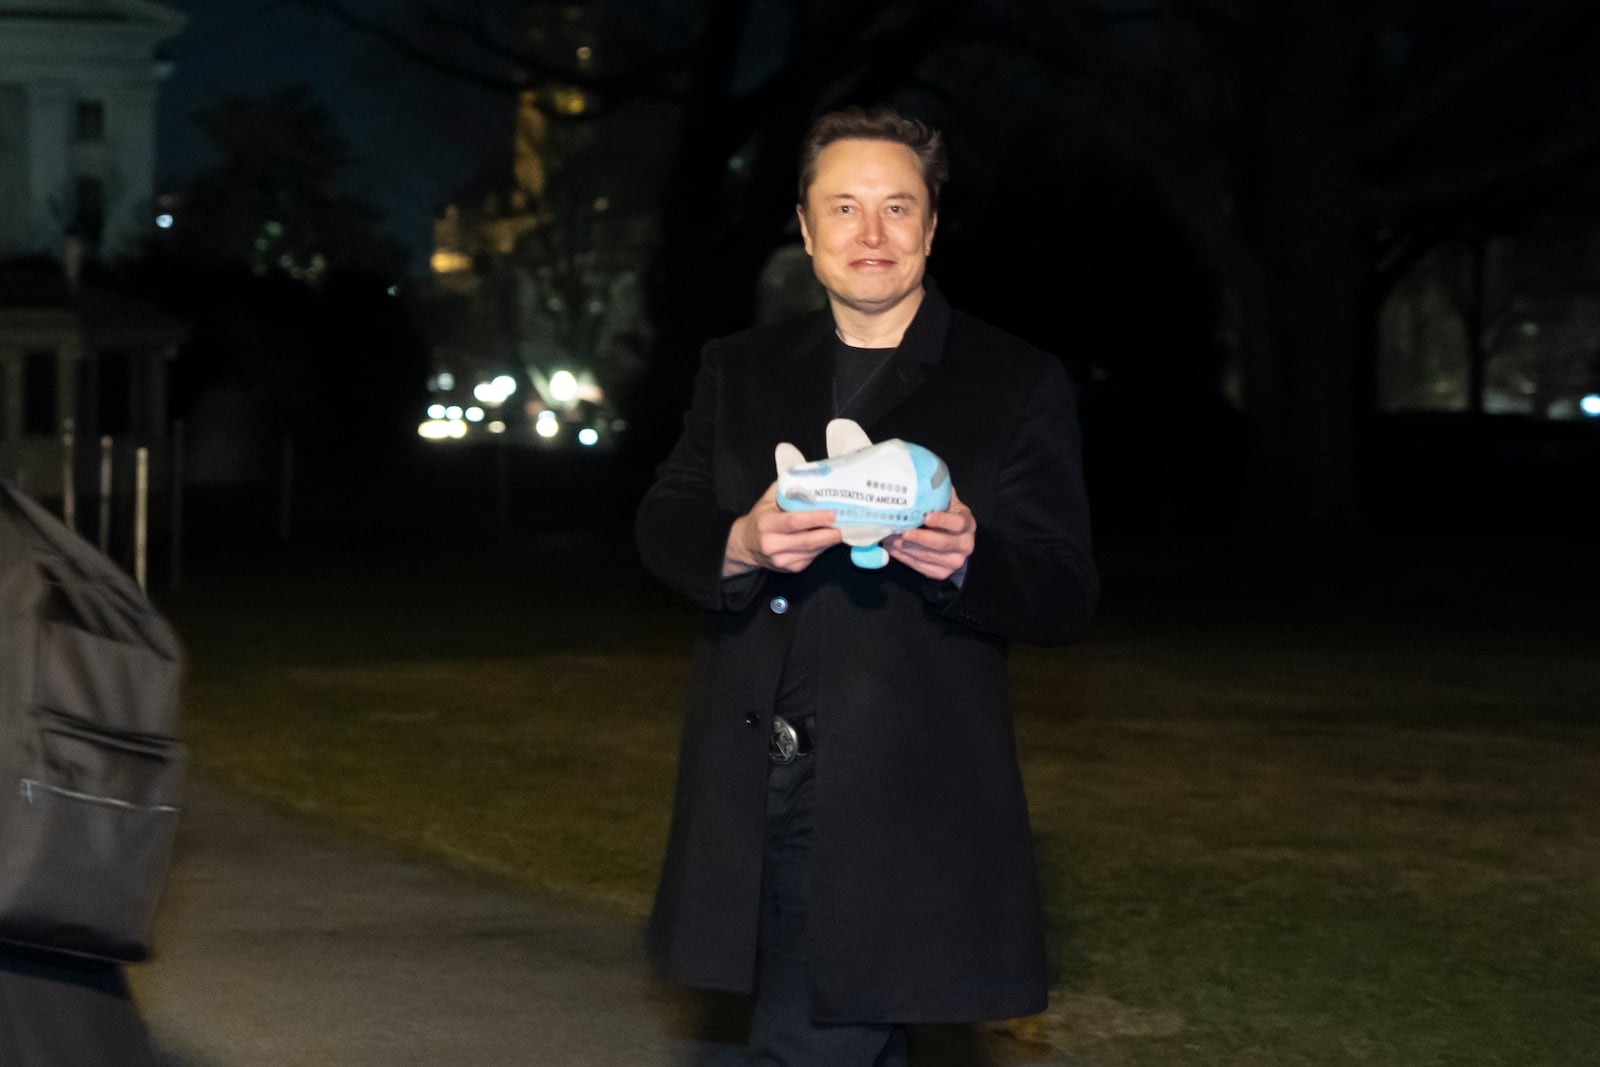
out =
[[[656,469],[634,522],[645,568],[702,608],[739,611],[760,592],[765,571],[722,577],[728,531],[742,512],[717,498],[717,419],[722,363],[717,342],[701,352],[694,395],[678,443]],[[754,502],[754,501],[752,501]]]

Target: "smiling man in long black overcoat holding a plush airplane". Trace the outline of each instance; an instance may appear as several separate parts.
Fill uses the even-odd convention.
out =
[[[638,509],[646,566],[706,608],[651,950],[754,987],[760,1064],[902,1062],[902,1024],[1045,1006],[1005,646],[1077,632],[1096,574],[1061,363],[925,280],[946,170],[891,110],[816,122],[797,210],[827,310],[706,346]],[[774,501],[773,446],[821,456],[835,416],[950,470],[883,569]]]

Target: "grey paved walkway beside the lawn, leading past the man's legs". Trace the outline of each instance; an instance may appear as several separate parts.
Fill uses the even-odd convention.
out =
[[[640,929],[192,782],[131,968],[170,1067],[733,1067],[741,1001],[650,977]],[[918,1067],[1066,1067],[994,1035],[917,1035]]]

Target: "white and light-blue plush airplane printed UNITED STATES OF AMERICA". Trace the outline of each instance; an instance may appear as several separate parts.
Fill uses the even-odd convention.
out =
[[[880,541],[950,506],[950,472],[942,459],[899,438],[874,445],[853,419],[827,424],[827,459],[806,462],[789,442],[778,445],[773,458],[778,507],[834,512],[834,526],[856,566],[886,565],[890,553]]]

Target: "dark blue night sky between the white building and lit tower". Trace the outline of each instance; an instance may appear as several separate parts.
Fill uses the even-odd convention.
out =
[[[389,227],[426,267],[438,205],[507,144],[509,114],[490,94],[422,74],[325,18],[269,0],[165,0],[189,26],[165,46],[173,59],[157,126],[157,182],[170,187],[211,162],[194,114],[227,94],[262,94],[298,82],[328,107]]]

